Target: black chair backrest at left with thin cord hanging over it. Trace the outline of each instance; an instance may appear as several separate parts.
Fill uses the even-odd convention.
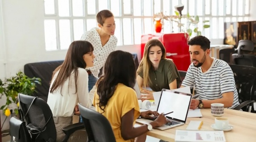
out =
[[[35,96],[28,96],[24,94],[18,95],[19,106],[21,109],[20,117],[24,118],[27,127],[35,128],[42,131],[39,135],[35,135],[36,142],[55,142],[56,128],[53,121],[52,111],[47,102]],[[33,136],[32,136],[32,139]]]

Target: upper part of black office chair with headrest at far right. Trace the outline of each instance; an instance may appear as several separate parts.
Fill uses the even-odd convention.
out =
[[[232,54],[234,64],[256,67],[256,56],[252,54],[242,54],[245,52],[252,52],[254,44],[250,40],[239,40],[237,47],[237,54]]]

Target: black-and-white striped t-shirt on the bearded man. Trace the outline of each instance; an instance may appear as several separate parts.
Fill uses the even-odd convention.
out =
[[[229,108],[239,105],[233,71],[223,60],[214,58],[211,67],[206,72],[202,72],[201,67],[195,67],[193,63],[190,64],[181,85],[195,85],[199,99],[204,100],[220,99],[223,97],[223,93],[232,91],[234,101],[232,107]]]

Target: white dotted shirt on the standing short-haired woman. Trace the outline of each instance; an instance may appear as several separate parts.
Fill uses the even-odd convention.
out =
[[[100,35],[97,32],[97,29],[97,27],[94,27],[91,30],[85,32],[81,37],[81,40],[86,40],[92,43],[92,46],[94,48],[94,66],[86,68],[86,70],[90,70],[95,78],[98,78],[100,68],[103,67],[103,65],[105,64],[109,54],[115,51],[117,47],[117,37],[115,37],[114,35],[111,35],[109,41],[102,47]]]

